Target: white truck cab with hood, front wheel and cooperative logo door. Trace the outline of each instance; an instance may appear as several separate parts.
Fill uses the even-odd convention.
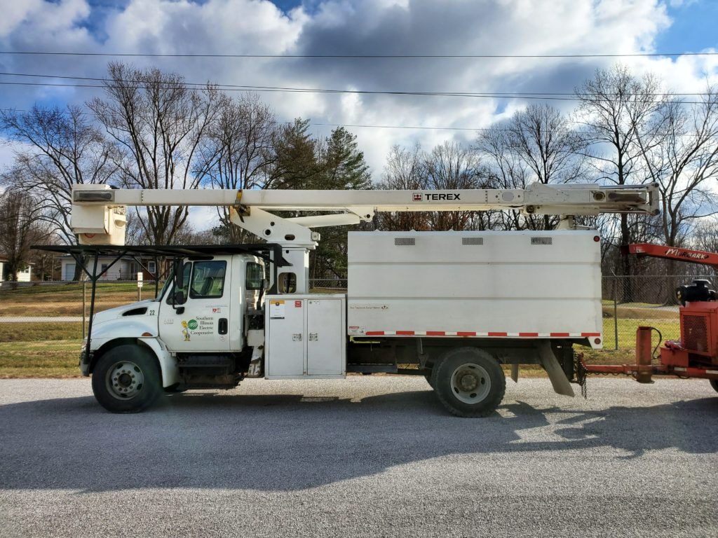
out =
[[[241,253],[174,263],[174,278],[157,298],[93,318],[80,367],[93,374],[95,396],[108,409],[139,410],[137,398],[146,395],[149,404],[163,389],[233,388],[253,357],[261,359],[265,260]],[[261,374],[261,367],[253,371]],[[150,385],[156,390],[143,390]]]

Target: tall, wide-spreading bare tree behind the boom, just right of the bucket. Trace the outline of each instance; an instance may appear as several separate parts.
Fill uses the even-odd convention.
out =
[[[194,166],[200,143],[218,114],[211,85],[188,88],[184,77],[159,69],[108,65],[106,99],[88,103],[113,138],[122,181],[140,189],[196,189],[207,170]],[[187,207],[152,206],[141,223],[151,242],[171,244],[187,220]]]

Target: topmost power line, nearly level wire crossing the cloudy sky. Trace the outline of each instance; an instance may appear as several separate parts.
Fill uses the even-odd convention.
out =
[[[30,50],[4,50],[2,55],[37,56],[99,56],[99,57],[152,57],[152,58],[271,58],[271,59],[426,59],[426,60],[465,60],[498,58],[630,58],[630,57],[679,57],[679,56],[718,56],[718,52],[635,52],[629,54],[556,54],[556,55],[269,55],[269,54],[160,54],[153,52],[49,52]]]

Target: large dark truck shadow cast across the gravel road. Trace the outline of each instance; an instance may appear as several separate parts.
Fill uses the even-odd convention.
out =
[[[0,488],[292,491],[448,455],[715,453],[717,418],[717,397],[601,410],[513,400],[475,420],[447,415],[428,390],[360,402],[188,393],[139,415],[93,397],[39,400],[0,407]]]

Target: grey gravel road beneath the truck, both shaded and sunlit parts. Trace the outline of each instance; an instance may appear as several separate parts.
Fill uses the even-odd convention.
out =
[[[485,419],[423,378],[248,380],[111,415],[87,379],[0,381],[2,537],[716,537],[701,380],[509,382]]]

